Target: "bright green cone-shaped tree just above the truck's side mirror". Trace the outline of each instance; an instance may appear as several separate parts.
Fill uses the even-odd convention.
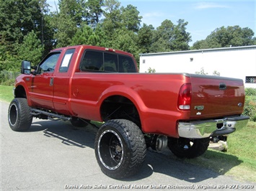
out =
[[[22,45],[19,47],[18,56],[21,60],[29,60],[33,65],[37,65],[42,59],[43,45],[34,31],[24,37]]]

